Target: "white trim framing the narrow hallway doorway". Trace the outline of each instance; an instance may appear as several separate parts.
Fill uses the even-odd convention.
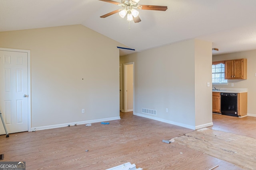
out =
[[[134,62],[124,63],[124,112],[127,112],[127,65],[132,64],[132,73],[133,73],[133,111],[134,111]]]

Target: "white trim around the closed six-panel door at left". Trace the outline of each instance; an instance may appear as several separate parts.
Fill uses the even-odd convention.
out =
[[[1,51],[13,51],[27,53],[28,55],[28,131],[31,132],[31,74],[30,74],[30,50],[1,48]]]

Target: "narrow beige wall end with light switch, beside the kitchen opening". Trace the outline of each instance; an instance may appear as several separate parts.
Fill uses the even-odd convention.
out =
[[[212,42],[195,39],[196,129],[212,125]],[[209,82],[210,86],[207,86]]]

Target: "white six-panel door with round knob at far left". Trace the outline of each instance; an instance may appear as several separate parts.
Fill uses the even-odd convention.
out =
[[[0,50],[0,109],[8,133],[28,131],[28,53]]]

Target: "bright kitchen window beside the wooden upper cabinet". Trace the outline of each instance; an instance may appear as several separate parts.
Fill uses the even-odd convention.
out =
[[[224,61],[212,63],[212,83],[228,83],[228,80],[225,79]]]

